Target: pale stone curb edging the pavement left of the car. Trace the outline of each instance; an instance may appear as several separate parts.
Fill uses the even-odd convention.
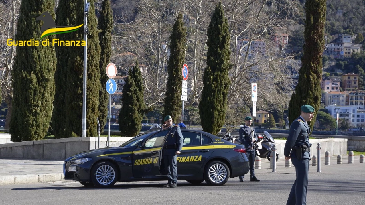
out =
[[[64,178],[63,176],[63,173],[0,176],[0,186],[20,183],[54,182],[62,180]]]

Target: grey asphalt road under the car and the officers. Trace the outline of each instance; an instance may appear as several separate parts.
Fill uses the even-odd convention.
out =
[[[332,162],[336,157],[331,158]],[[322,173],[310,166],[308,205],[363,205],[365,201],[365,164],[322,165]],[[1,163],[1,162],[0,162]],[[238,182],[229,179],[226,185],[193,186],[179,181],[177,188],[162,188],[161,182],[119,182],[109,189],[88,188],[79,183],[58,181],[0,186],[1,204],[4,205],[155,205],[155,204],[285,204],[291,185],[295,180],[295,168],[285,168],[279,159],[276,173],[269,169],[267,159],[262,160],[262,169],[256,170],[261,182]],[[59,165],[54,165],[59,166]],[[1,169],[3,171],[3,169]]]

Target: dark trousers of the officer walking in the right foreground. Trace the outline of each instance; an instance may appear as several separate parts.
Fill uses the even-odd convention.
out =
[[[290,191],[287,205],[306,205],[307,204],[307,186],[308,186],[308,171],[309,159],[291,158],[295,166],[296,180]]]

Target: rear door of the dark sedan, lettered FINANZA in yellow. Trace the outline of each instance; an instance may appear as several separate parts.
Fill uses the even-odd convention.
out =
[[[194,131],[181,131],[181,134],[183,135],[183,149],[177,156],[177,174],[197,174],[214,151],[211,144],[212,139]]]

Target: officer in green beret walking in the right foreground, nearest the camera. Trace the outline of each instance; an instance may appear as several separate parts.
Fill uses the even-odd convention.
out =
[[[296,180],[290,191],[287,205],[306,205],[308,170],[310,157],[309,134],[311,128],[307,124],[313,118],[314,108],[303,105],[300,116],[290,125],[289,136],[284,147],[285,159],[291,159],[295,166]]]

